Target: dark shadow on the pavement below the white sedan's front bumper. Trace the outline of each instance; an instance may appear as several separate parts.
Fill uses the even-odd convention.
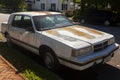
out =
[[[98,65],[83,71],[64,67],[57,75],[63,80],[120,80],[120,69],[109,64]]]

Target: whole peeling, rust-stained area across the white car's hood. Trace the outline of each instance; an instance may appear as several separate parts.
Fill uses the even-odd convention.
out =
[[[48,30],[46,32],[51,35],[62,37],[62,38],[65,38],[65,37],[75,38],[75,36],[77,36],[77,37],[86,38],[86,39],[94,39],[96,37],[100,37],[104,35],[103,32],[86,28],[86,27],[81,27],[81,26],[70,26],[65,28],[58,28],[58,29]]]

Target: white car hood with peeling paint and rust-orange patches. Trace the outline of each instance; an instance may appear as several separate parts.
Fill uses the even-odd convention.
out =
[[[79,25],[46,30],[42,34],[74,48],[80,48],[81,44],[97,44],[113,37],[108,33]]]

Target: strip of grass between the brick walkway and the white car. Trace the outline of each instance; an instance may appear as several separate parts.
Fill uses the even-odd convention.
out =
[[[0,39],[2,36],[0,35]],[[0,42],[0,55],[10,62],[28,80],[58,80],[58,76],[43,68],[33,59],[24,55],[15,47],[8,47],[5,42]]]

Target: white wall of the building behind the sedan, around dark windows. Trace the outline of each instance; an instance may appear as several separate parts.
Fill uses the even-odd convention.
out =
[[[74,6],[70,5],[70,2],[72,2],[73,0],[68,0],[68,1],[64,1],[62,2],[62,0],[35,0],[34,3],[32,3],[32,9],[34,10],[41,10],[41,3],[45,4],[45,10],[50,10],[51,9],[51,4],[55,3],[56,4],[56,11],[62,11],[62,4],[67,4],[67,10],[73,10]]]

